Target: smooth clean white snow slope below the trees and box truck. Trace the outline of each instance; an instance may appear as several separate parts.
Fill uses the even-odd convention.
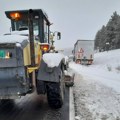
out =
[[[94,64],[90,66],[69,64],[76,72],[90,76],[92,79],[120,92],[120,49],[109,52],[96,53]]]

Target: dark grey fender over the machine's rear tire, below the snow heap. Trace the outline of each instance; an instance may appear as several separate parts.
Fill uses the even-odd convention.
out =
[[[64,62],[61,60],[59,66],[50,68],[41,60],[40,68],[37,73],[37,80],[36,80],[36,87],[38,94],[45,94],[46,93],[46,86],[49,82],[59,83],[61,72],[64,73]]]

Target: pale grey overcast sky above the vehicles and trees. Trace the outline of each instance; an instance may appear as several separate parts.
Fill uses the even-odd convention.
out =
[[[62,34],[56,47],[68,48],[78,39],[94,39],[114,11],[120,15],[120,0],[0,0],[0,35],[10,28],[4,11],[30,8],[46,11],[51,30]]]

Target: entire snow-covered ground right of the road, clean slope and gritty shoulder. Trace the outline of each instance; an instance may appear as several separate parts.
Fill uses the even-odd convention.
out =
[[[69,63],[75,72],[76,120],[120,120],[120,49],[95,53],[92,65]]]

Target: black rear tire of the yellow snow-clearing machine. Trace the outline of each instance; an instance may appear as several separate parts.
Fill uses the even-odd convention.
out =
[[[47,100],[51,108],[61,108],[64,100],[64,86],[61,83],[49,83],[47,85]]]

